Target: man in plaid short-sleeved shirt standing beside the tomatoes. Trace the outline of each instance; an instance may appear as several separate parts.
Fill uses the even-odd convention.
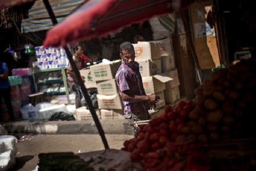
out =
[[[134,61],[134,47],[130,42],[123,42],[120,45],[120,57],[122,64],[116,73],[115,80],[124,104],[124,117],[131,119],[132,123],[149,120],[151,116],[148,110],[155,109],[155,103],[160,97],[157,94],[146,95],[139,64]]]

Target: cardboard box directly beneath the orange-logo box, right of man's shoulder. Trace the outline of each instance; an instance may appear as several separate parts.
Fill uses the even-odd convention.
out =
[[[139,72],[141,77],[149,77],[158,73],[162,73],[161,59],[141,60],[139,63]]]

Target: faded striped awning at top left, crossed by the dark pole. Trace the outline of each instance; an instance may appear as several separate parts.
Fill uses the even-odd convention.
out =
[[[52,10],[56,15],[57,21],[60,22],[68,14],[74,11],[85,0],[49,0]],[[43,0],[35,1],[34,5],[28,11],[29,18],[22,20],[21,32],[37,32],[48,30],[53,27],[51,18],[45,9]]]

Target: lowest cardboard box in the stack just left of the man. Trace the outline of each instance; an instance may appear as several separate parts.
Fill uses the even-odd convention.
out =
[[[101,119],[124,119],[124,110],[123,109],[100,109]]]

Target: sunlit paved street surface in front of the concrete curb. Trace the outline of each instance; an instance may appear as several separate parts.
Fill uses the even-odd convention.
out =
[[[35,169],[38,154],[49,152],[85,153],[104,149],[101,137],[98,134],[18,134],[27,139],[19,141],[16,154],[16,165],[12,171],[31,171]],[[17,134],[16,134],[17,136]],[[132,135],[106,134],[111,149],[121,149],[123,142],[132,138]]]

